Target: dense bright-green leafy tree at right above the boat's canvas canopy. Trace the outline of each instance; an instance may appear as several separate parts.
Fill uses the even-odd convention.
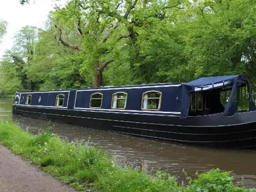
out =
[[[253,67],[254,60],[255,11],[250,0],[202,0],[196,4],[182,24],[188,79],[241,73],[254,78],[247,68]]]

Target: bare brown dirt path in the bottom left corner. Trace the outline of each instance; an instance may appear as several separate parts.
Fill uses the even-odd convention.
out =
[[[0,145],[0,192],[75,192]]]

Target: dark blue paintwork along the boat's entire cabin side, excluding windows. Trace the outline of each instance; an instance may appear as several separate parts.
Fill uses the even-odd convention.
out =
[[[181,87],[181,84],[178,83],[166,83],[135,86],[109,86],[81,90],[59,90],[54,92],[17,91],[17,93],[21,94],[20,105],[25,105],[26,96],[31,94],[32,102],[30,106],[46,107],[55,107],[56,96],[58,94],[64,94],[65,97],[63,107],[73,110],[75,108],[90,108],[90,97],[94,93],[103,94],[102,109],[111,109],[112,95],[116,92],[125,92],[128,94],[125,110],[143,111],[141,109],[143,93],[148,91],[159,91],[162,92],[161,106],[159,111],[180,112]],[[38,102],[39,97],[41,97],[40,103]],[[121,111],[122,110],[120,110],[120,112]]]

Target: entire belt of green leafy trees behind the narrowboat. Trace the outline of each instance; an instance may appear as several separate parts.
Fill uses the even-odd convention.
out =
[[[1,89],[184,82],[241,73],[255,85],[255,12],[253,0],[70,0],[50,12],[46,30],[26,27],[29,38],[25,28],[16,35],[1,67],[1,82],[10,85]]]

